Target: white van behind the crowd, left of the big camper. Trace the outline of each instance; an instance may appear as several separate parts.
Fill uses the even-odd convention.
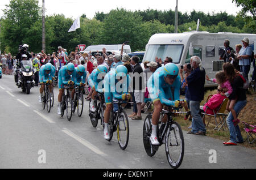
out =
[[[113,51],[113,50],[116,50],[116,51],[121,51],[122,49],[122,44],[114,44],[114,45],[92,45],[92,46],[88,46],[86,49],[85,49],[85,52],[89,52],[89,51],[102,51],[103,48],[106,48],[106,51]],[[131,53],[131,47],[130,45],[125,45],[123,46],[123,52],[128,54],[128,53]]]

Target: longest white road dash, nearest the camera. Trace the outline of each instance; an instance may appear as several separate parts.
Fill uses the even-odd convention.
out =
[[[92,150],[97,155],[106,156],[106,154],[104,152],[100,151],[100,149],[98,149],[95,145],[93,145],[93,144],[89,143],[88,141],[82,139],[80,136],[77,136],[76,134],[73,134],[73,132],[69,131],[67,128],[63,128],[62,131],[65,134],[71,136],[73,139],[77,140],[82,145],[85,145],[87,148]]]

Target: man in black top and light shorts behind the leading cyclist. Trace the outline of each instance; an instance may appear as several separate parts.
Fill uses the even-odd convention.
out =
[[[141,108],[142,102],[144,102],[144,92],[142,89],[144,87],[144,76],[141,65],[139,65],[139,57],[134,55],[131,58],[131,65],[133,65],[133,93],[134,93],[134,106],[137,106],[137,112],[134,107],[134,115],[132,119],[142,119],[141,117]]]

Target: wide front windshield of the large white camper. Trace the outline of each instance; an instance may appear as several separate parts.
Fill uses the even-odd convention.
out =
[[[184,45],[148,45],[143,61],[155,61],[155,57],[164,61],[166,57],[171,57],[173,63],[179,63],[183,49]]]

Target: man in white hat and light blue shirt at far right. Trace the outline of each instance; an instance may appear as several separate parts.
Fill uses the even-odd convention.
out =
[[[248,79],[248,74],[250,71],[250,57],[251,57],[251,47],[249,46],[249,39],[247,37],[243,38],[242,40],[243,47],[239,52],[238,59],[239,59],[239,66],[240,72],[243,73],[243,77]]]

